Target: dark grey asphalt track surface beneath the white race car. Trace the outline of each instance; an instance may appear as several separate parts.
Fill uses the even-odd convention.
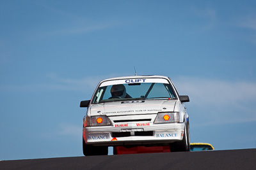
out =
[[[3,160],[0,169],[256,169],[256,149]]]

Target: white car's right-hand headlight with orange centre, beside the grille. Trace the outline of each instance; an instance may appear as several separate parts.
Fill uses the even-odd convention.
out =
[[[157,113],[154,124],[180,122],[179,112]]]

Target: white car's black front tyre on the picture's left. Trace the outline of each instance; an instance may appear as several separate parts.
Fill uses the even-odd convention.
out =
[[[108,146],[86,145],[83,139],[83,153],[84,156],[108,155]]]

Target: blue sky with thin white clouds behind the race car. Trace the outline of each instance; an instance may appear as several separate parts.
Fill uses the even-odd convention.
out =
[[[170,76],[191,142],[256,147],[256,1],[0,1],[0,160],[81,156],[100,80]]]

